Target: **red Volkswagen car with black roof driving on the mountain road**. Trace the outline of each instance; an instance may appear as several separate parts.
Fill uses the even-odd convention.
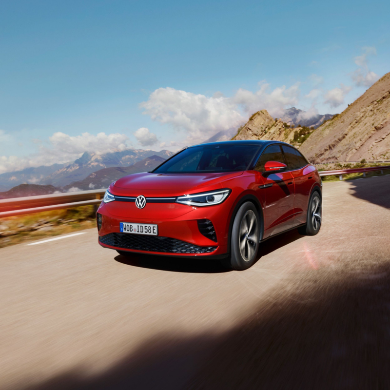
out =
[[[287,143],[196,145],[110,185],[97,213],[99,244],[124,255],[227,258],[244,270],[269,237],[317,234],[321,204],[316,168]]]

